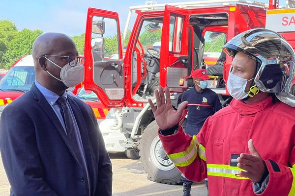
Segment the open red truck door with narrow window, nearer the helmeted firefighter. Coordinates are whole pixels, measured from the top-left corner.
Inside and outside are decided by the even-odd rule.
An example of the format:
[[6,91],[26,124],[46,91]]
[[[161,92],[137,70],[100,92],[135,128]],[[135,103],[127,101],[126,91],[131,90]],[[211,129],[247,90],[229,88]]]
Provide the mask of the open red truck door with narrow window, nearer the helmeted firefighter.
[[[187,10],[165,6],[160,53],[160,85],[173,92],[187,89],[187,78],[193,70],[189,56],[189,28]],[[190,43],[189,43],[190,42]]]

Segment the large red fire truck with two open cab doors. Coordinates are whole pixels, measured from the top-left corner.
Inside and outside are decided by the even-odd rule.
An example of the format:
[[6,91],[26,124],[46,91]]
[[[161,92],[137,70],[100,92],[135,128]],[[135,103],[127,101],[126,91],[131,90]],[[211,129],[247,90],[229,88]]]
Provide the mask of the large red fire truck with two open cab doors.
[[[130,158],[140,155],[150,180],[180,183],[180,172],[157,135],[148,99],[155,102],[154,90],[168,86],[177,109],[182,93],[192,87],[191,73],[206,68],[209,87],[227,104],[230,96],[225,84],[233,59],[221,47],[247,29],[267,26],[282,32],[295,48],[295,1],[288,1],[286,7],[279,9],[277,0],[268,5],[248,0],[201,0],[132,6],[122,40],[118,13],[89,8],[85,89],[114,110],[116,119],[107,123],[109,132],[123,138],[106,145],[130,150]],[[136,20],[123,59],[122,44],[134,13]],[[266,20],[267,15],[275,20]]]

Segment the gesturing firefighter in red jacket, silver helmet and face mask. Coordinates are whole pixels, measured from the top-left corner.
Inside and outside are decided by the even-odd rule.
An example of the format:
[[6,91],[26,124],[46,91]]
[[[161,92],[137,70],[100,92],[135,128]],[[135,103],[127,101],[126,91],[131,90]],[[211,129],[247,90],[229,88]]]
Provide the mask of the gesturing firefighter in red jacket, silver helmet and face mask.
[[[251,29],[223,50],[234,57],[227,89],[234,98],[198,135],[180,125],[187,102],[171,106],[169,89],[149,100],[163,147],[192,181],[208,177],[211,196],[295,196],[295,53],[278,33]],[[293,107],[291,107],[293,106]]]

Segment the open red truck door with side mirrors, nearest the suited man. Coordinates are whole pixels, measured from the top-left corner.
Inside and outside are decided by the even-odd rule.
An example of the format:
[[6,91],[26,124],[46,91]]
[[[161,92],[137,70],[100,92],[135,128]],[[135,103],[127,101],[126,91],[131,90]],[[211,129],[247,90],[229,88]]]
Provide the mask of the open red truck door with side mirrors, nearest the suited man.
[[85,34],[85,89],[107,107],[124,104],[124,69],[118,13],[89,8]]

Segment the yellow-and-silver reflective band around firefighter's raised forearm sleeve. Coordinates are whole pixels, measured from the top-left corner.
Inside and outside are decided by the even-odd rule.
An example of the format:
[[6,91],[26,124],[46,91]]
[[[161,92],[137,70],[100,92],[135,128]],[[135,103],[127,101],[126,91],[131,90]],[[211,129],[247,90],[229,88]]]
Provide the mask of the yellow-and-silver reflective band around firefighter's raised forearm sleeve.
[[185,167],[190,165],[197,157],[197,147],[194,140],[191,141],[190,145],[186,150],[173,154],[167,154],[174,165],[179,167]]

